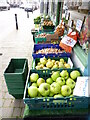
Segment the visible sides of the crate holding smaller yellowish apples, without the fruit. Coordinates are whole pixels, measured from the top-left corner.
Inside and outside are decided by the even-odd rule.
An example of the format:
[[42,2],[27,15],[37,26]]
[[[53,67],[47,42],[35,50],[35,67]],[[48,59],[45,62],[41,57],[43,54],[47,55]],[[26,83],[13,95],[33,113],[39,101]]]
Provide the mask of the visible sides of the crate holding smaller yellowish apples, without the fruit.
[[[48,58],[50,58],[51,60],[56,60],[56,61],[59,61],[60,58],[63,58],[64,61],[65,61],[66,63],[69,63],[70,66],[71,66],[71,68],[73,68],[73,63],[72,63],[72,61],[71,61],[71,59],[70,59],[69,57],[53,57],[53,58],[48,57]],[[32,69],[35,69],[35,67],[36,67],[36,65],[37,65],[38,62],[40,62],[40,58],[33,59]]]

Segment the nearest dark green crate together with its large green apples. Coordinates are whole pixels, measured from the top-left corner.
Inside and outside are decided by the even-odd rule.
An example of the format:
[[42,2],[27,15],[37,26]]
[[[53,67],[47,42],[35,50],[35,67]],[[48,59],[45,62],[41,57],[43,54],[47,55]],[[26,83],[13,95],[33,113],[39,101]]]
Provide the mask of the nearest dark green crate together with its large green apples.
[[85,97],[73,95],[79,76],[82,76],[79,68],[32,69],[26,82],[24,103],[31,110],[85,108],[87,104]]

